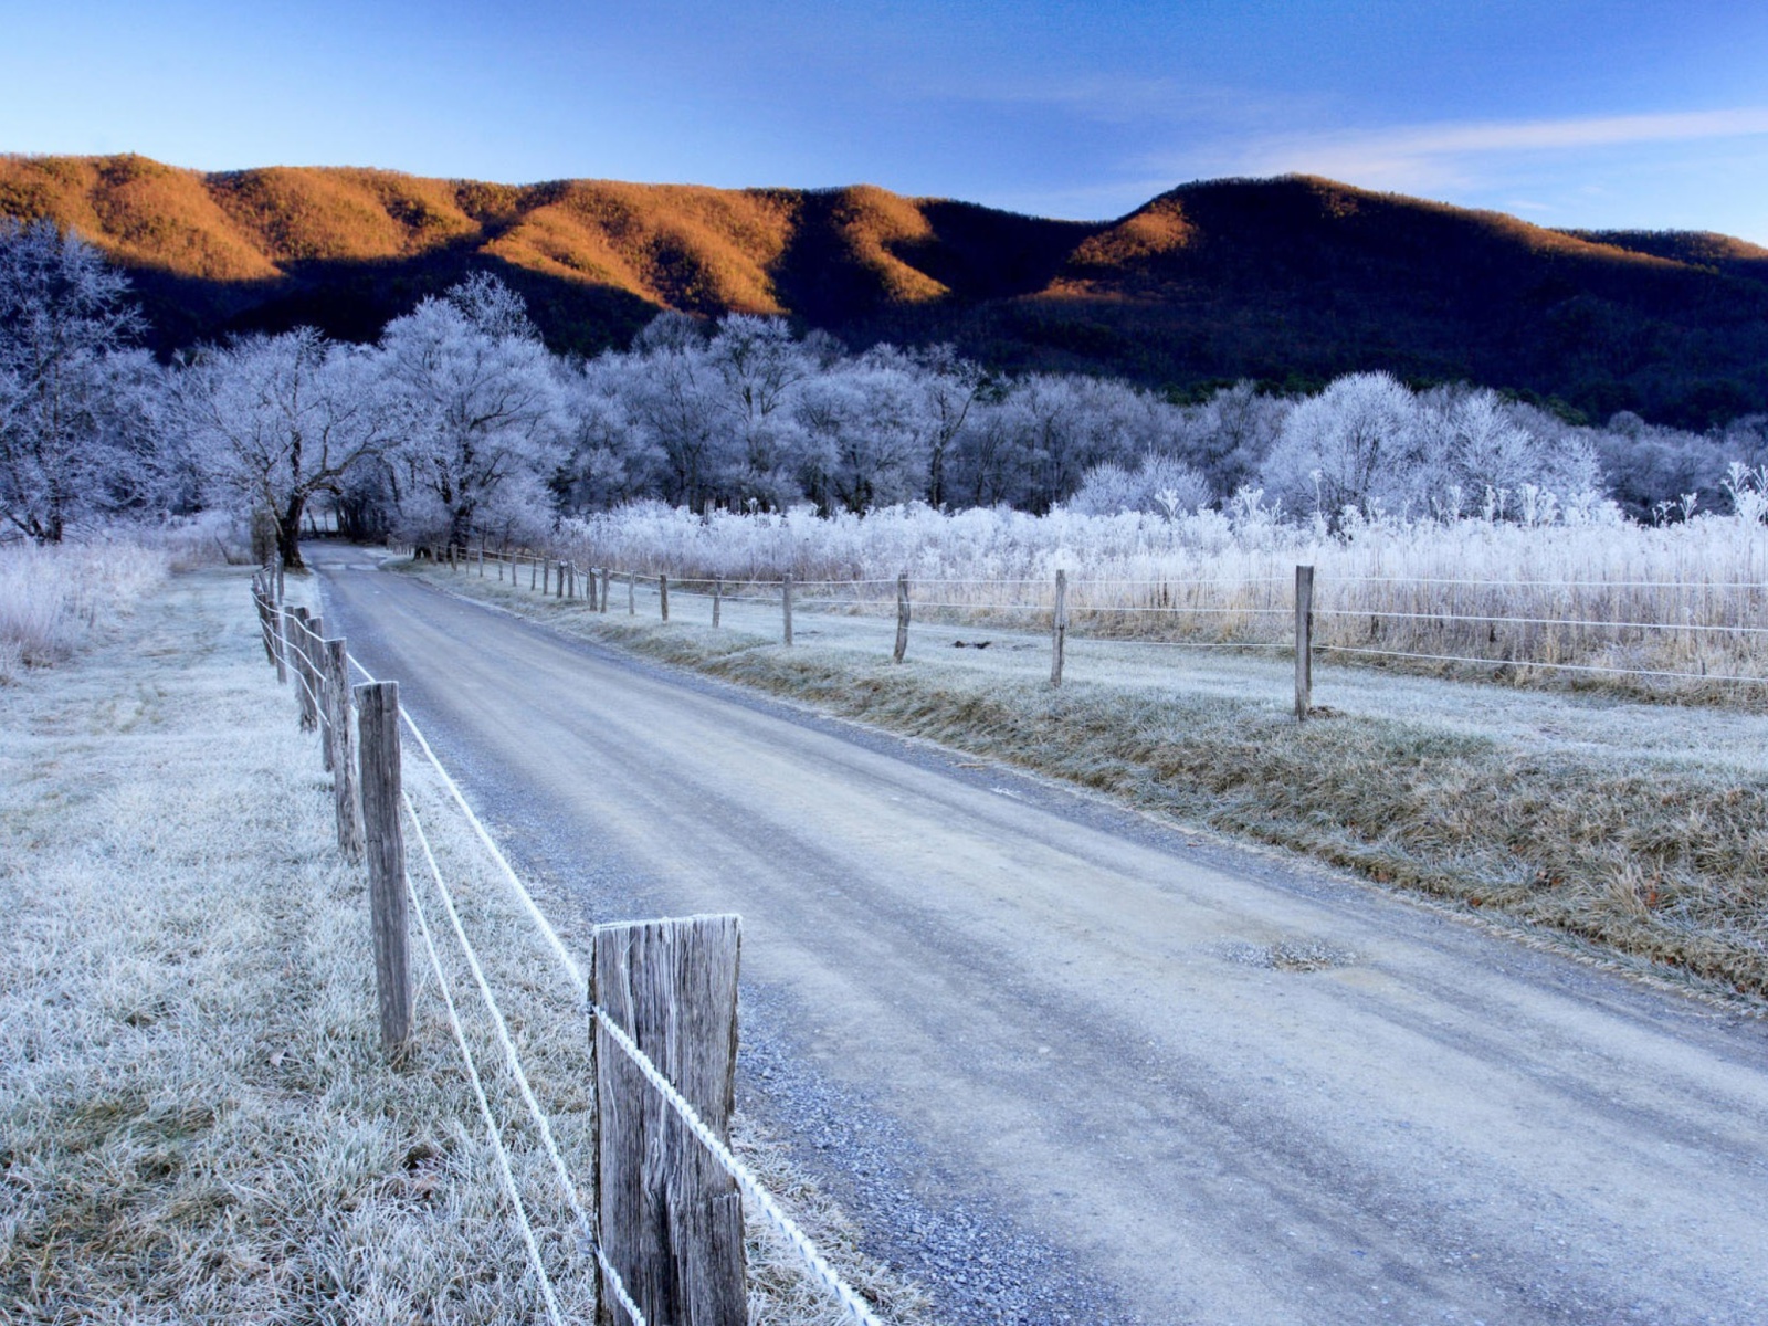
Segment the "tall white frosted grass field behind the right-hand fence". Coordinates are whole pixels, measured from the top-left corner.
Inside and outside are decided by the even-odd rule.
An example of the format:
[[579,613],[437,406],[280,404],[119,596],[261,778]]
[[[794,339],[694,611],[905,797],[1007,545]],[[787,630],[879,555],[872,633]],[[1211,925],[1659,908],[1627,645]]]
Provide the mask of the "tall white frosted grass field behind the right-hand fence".
[[1768,525],[1749,483],[1738,484],[1738,514],[1662,527],[1600,509],[1328,532],[1273,520],[1257,502],[1177,520],[926,507],[702,518],[644,506],[568,522],[553,555],[721,576],[739,592],[790,573],[806,605],[891,615],[907,575],[919,617],[1001,626],[1045,624],[1061,569],[1075,635],[1193,647],[1292,642],[1294,569],[1305,564],[1315,568],[1315,644],[1345,661],[1503,668],[1510,681],[1761,707]]

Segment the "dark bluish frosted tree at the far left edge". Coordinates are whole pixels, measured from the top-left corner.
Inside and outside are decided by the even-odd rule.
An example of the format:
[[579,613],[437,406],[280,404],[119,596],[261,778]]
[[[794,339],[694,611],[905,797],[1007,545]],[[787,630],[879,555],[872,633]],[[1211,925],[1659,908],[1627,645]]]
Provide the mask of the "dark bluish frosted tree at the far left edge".
[[[69,523],[152,504],[133,424],[157,375],[124,348],[141,329],[129,283],[50,221],[0,221],[0,522],[58,543]],[[134,398],[134,400],[131,400]]]

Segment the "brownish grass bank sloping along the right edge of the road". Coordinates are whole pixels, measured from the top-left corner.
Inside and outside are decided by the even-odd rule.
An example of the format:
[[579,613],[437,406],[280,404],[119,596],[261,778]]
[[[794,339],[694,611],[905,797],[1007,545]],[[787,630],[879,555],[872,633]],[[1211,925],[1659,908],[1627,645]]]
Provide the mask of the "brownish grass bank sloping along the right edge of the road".
[[1170,686],[1071,681],[1057,691],[419,575],[649,658],[1305,852],[1710,994],[1768,995],[1768,780],[1745,771],[1542,753],[1432,727],[1429,714],[1296,725],[1266,700]]

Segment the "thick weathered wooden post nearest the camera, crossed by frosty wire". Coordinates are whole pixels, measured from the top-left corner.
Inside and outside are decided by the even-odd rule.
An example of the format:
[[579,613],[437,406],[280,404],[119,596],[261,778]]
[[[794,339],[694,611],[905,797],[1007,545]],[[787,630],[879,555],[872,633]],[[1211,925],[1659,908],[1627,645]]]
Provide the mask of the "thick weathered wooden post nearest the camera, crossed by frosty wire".
[[[598,1227],[610,1264],[654,1322],[746,1326],[743,1195],[603,1020],[636,1041],[728,1142],[739,951],[735,916],[599,925],[594,934]],[[603,1321],[622,1317],[603,1307]]]

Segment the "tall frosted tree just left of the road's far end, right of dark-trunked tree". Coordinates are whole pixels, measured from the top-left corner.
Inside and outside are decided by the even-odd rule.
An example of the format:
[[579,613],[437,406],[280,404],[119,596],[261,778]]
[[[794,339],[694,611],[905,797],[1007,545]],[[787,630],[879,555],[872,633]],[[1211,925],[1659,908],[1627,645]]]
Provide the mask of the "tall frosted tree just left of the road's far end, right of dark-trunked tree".
[[394,460],[407,534],[465,546],[545,523],[564,461],[564,391],[520,299],[474,276],[387,324],[382,380],[405,410]]

